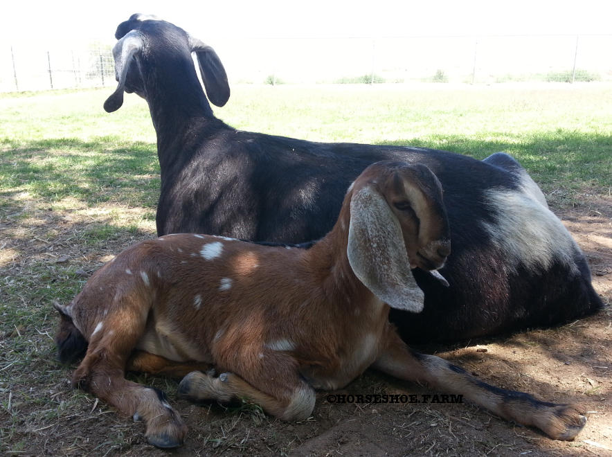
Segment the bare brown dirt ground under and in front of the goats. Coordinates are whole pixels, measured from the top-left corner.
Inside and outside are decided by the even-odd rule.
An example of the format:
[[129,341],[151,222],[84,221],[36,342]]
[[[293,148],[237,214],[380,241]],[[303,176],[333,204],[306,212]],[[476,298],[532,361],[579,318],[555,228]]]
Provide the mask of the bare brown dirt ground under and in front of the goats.
[[[9,455],[612,456],[612,199],[585,198],[573,209],[555,212],[591,262],[593,284],[606,303],[602,312],[561,328],[470,341],[460,347],[417,348],[435,352],[496,386],[525,391],[551,402],[581,404],[588,412],[588,422],[573,442],[550,440],[470,404],[339,404],[331,402],[327,393],[318,394],[311,418],[286,423],[273,420],[252,405],[226,409],[217,404],[201,406],[176,400],[174,380],[133,376],[138,382],[165,390],[188,424],[184,447],[162,451],[147,445],[142,423],[120,418],[95,398],[72,391],[71,370],[56,366],[56,372],[46,375],[51,384],[33,381],[30,400],[26,398],[28,387],[20,387],[12,405],[9,400],[10,418],[3,401],[0,421],[6,427],[12,420],[10,440],[24,443]],[[125,246],[129,240],[116,241]],[[99,265],[108,260],[113,244],[105,247],[106,252],[82,253],[80,261]],[[73,245],[64,244],[66,249],[69,246]],[[58,249],[53,256],[63,255],[61,244]],[[75,258],[74,252],[68,255]],[[53,336],[51,326],[37,332]],[[8,348],[3,350],[10,350],[10,341],[16,337],[15,332],[0,335],[2,347]],[[51,360],[53,344],[44,339],[42,357]],[[54,366],[52,361],[49,366]],[[334,392],[396,393],[416,394],[422,399],[420,395],[433,392],[372,371],[343,391]],[[47,418],[36,410],[43,407],[37,404],[37,398],[46,399],[44,407],[52,399],[61,413],[51,411]]]

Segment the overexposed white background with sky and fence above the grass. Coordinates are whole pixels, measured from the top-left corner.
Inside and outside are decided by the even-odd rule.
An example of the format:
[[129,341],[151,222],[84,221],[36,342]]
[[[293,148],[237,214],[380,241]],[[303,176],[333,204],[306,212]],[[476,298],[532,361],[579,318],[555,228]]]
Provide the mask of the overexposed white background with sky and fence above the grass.
[[612,80],[609,1],[76,1],[3,4],[0,91],[114,86],[134,12],[213,46],[232,84]]

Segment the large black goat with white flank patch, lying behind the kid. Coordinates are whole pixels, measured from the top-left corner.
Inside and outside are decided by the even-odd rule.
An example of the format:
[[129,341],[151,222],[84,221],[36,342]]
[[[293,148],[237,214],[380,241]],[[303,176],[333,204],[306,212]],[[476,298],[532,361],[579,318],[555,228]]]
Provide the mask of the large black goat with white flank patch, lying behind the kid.
[[161,165],[158,235],[316,240],[330,231],[346,189],[370,163],[421,163],[445,192],[452,253],[440,271],[450,287],[414,270],[424,310],[391,316],[404,339],[457,341],[561,323],[602,306],[582,252],[512,157],[478,161],[424,148],[237,131],[208,104],[222,106],[230,93],[213,48],[173,24],[143,19],[132,15],[117,28],[119,84],[105,109],[118,109],[124,91],[149,104]]

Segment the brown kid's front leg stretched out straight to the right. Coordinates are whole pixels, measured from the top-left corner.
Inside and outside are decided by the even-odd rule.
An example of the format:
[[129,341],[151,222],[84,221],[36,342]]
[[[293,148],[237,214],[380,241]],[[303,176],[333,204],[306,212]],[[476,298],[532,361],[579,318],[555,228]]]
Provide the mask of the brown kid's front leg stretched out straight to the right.
[[501,418],[537,427],[555,440],[573,440],[586,424],[575,405],[541,402],[528,393],[494,387],[440,357],[412,352],[395,330],[389,332],[384,347],[372,368],[399,379],[425,382],[442,392],[462,394]]

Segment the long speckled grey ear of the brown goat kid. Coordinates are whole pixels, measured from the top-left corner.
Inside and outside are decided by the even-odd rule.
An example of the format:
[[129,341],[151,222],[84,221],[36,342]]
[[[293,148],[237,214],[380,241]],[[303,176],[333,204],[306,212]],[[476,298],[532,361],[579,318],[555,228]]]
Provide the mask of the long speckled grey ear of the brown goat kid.
[[350,201],[348,262],[361,283],[397,310],[420,312],[424,293],[410,269],[402,228],[385,199],[369,186]]

